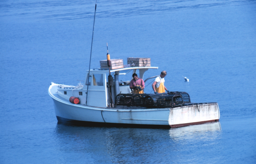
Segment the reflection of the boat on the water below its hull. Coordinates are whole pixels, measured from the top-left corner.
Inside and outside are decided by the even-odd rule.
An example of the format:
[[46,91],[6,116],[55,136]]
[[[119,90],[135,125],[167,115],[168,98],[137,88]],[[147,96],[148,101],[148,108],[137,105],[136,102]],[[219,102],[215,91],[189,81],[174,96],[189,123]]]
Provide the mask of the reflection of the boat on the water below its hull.
[[[61,151],[87,163],[193,163],[194,158],[183,161],[180,157],[187,151],[197,155],[190,149],[198,153],[213,148],[220,132],[220,122],[176,129],[84,127],[59,122],[54,136]],[[201,144],[208,146],[202,148]]]

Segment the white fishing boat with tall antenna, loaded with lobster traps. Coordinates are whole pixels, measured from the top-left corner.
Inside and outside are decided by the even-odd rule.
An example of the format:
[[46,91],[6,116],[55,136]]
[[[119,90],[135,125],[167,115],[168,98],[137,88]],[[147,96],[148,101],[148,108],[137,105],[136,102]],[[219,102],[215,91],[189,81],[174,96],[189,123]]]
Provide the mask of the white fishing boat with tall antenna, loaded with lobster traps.
[[[139,78],[143,79],[146,71],[158,67],[153,67],[144,60],[137,65],[130,62],[126,65],[120,62],[113,65],[111,61],[114,59],[111,60],[107,53],[106,66],[102,64],[100,68],[91,69],[90,56],[84,85],[51,83],[48,93],[54,101],[58,122],[84,126],[178,128],[219,120],[217,102],[192,103],[186,92],[132,93],[129,73],[138,72]],[[119,80],[120,76],[123,76],[124,80]],[[145,83],[155,77],[147,78]]]

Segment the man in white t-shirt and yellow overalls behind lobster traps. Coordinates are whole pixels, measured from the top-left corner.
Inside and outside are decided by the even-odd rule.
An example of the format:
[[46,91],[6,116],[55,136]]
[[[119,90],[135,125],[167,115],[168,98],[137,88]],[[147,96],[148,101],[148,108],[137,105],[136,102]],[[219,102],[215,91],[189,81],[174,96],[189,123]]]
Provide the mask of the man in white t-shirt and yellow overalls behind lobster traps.
[[152,88],[155,94],[165,93],[165,90],[169,92],[166,87],[163,85],[165,82],[164,77],[167,75],[166,71],[162,71],[159,77],[156,77],[155,81],[152,84]]

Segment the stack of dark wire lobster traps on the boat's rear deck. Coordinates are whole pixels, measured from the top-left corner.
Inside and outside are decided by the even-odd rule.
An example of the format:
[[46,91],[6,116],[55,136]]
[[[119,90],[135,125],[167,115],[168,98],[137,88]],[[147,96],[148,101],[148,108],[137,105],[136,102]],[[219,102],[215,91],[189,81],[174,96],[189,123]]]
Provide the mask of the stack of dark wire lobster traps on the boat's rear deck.
[[143,106],[147,108],[174,108],[190,103],[186,92],[169,92],[161,94],[119,94],[115,106]]

